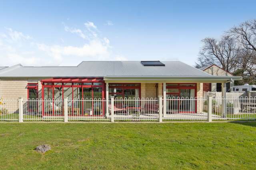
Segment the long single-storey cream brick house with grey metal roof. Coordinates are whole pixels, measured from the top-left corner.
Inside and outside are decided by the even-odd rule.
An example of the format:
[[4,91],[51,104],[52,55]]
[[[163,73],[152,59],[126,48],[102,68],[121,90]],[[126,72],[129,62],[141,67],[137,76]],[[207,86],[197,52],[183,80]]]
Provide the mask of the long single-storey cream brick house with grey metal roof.
[[[227,82],[240,79],[211,75],[180,61],[83,61],[78,66],[17,64],[0,70],[0,98],[202,98],[203,83],[220,83],[226,92]],[[178,112],[196,109],[182,102],[178,105]],[[80,109],[85,110],[83,106]]]

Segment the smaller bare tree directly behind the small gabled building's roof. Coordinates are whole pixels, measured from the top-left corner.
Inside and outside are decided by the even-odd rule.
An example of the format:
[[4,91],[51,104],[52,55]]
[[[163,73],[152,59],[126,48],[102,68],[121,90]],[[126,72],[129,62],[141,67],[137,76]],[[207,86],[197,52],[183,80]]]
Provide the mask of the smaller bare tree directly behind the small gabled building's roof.
[[199,52],[197,67],[216,64],[228,72],[234,70],[239,47],[233,37],[223,36],[219,41],[214,38],[205,38],[202,43],[203,47]]

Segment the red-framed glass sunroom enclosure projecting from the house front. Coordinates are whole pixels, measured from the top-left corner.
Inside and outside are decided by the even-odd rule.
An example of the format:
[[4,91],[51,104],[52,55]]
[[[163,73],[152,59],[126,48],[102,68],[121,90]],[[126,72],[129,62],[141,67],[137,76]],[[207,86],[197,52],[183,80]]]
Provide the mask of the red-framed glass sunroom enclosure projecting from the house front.
[[[50,82],[49,82],[50,81]],[[64,97],[73,99],[68,102],[68,112],[78,116],[95,116],[104,114],[104,83],[102,78],[60,78],[42,80],[44,110],[53,115],[63,115]],[[51,105],[51,106],[49,106]],[[51,109],[48,109],[51,107]]]

